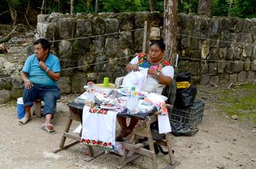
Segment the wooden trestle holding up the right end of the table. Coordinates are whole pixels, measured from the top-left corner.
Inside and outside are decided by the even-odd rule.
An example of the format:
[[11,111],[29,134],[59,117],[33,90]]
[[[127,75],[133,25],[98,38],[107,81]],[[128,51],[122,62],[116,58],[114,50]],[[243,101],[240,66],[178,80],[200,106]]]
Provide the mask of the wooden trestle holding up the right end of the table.
[[[152,122],[155,122],[156,120],[157,120],[156,115],[150,115],[150,118],[147,118],[146,120],[142,120],[141,127],[134,128],[134,131],[132,132],[129,143],[123,143],[125,148],[125,154],[120,159],[118,163],[118,168],[124,167],[127,163],[133,161],[134,159],[137,159],[138,156],[141,156],[141,155],[149,156],[150,158],[152,158],[152,168],[157,168],[157,158],[154,152],[154,144],[163,145],[167,147],[169,152],[168,154],[169,154],[170,164],[166,168],[175,168],[177,165],[179,165],[179,162],[174,161],[173,150],[170,143],[170,133],[166,134],[166,140],[162,140],[162,141],[153,140],[150,124]],[[143,143],[136,143],[137,136],[143,136],[148,140]],[[149,145],[150,150],[143,148],[145,147],[145,145]],[[129,152],[134,152],[134,154],[132,156],[127,157],[127,154]]]

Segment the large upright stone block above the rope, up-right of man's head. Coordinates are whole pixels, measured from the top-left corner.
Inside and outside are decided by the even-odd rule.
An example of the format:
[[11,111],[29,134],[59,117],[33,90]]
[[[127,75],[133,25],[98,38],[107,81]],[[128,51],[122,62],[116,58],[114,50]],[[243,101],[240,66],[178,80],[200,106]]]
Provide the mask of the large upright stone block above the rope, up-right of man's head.
[[58,33],[62,40],[74,38],[76,21],[72,17],[61,18],[58,20]]

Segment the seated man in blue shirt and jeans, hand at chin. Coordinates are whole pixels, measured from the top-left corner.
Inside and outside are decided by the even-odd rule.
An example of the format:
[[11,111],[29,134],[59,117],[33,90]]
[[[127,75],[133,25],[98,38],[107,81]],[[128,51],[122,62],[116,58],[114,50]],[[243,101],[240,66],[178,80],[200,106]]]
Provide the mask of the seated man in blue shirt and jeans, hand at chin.
[[60,79],[61,64],[56,56],[50,54],[51,44],[45,39],[36,40],[34,43],[35,54],[26,59],[22,69],[22,97],[25,107],[24,118],[19,120],[23,125],[31,120],[31,106],[35,99],[45,102],[45,123],[40,127],[50,134],[54,134],[51,119],[54,117],[56,99],[60,99],[60,91],[56,81]]

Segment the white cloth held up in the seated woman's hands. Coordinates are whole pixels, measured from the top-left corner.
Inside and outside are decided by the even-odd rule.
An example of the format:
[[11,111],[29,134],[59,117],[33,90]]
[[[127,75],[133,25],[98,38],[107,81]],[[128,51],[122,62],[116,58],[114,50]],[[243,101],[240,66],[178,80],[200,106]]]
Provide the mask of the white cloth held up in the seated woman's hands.
[[122,81],[122,86],[131,88],[135,86],[136,90],[141,90],[146,79],[148,68],[138,67],[139,71],[129,72]]

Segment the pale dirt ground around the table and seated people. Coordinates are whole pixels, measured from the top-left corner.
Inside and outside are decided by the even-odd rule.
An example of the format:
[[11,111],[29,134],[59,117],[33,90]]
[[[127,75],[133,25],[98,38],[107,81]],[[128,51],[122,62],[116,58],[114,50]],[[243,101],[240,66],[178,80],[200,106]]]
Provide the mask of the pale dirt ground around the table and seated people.
[[[216,106],[216,100],[207,92],[198,92],[205,98],[205,111],[200,129],[194,136],[173,136],[175,159],[183,168],[256,168],[256,125],[246,120],[232,120]],[[56,134],[40,129],[44,118],[33,115],[31,122],[19,126],[16,102],[0,104],[0,168],[116,168],[120,156],[102,154],[90,162],[84,161],[86,147],[81,144],[56,154],[68,117],[67,102],[73,96],[62,96],[54,118]],[[72,131],[79,123],[72,124]],[[72,140],[67,140],[71,142]],[[158,154],[159,168],[168,163],[168,155]],[[125,168],[150,168],[151,159],[141,156]]]

